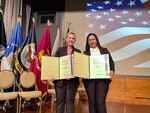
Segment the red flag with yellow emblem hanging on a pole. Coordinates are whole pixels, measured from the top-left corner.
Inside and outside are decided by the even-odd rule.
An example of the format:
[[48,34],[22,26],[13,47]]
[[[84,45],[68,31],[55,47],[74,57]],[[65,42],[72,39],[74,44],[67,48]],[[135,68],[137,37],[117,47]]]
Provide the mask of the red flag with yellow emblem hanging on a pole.
[[51,54],[51,41],[50,41],[50,25],[47,25],[46,31],[38,45],[37,53],[31,62],[29,70],[36,75],[36,82],[38,90],[42,91],[43,96],[47,91],[47,84],[41,80],[41,59],[43,55]]

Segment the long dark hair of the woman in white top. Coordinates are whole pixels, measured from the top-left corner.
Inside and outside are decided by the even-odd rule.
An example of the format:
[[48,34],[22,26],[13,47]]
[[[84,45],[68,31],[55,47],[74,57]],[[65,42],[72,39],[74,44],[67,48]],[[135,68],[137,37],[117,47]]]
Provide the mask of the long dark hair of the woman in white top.
[[100,42],[99,42],[99,40],[98,40],[98,36],[97,36],[95,33],[89,33],[89,34],[87,35],[87,38],[86,38],[85,51],[89,51],[89,49],[90,49],[90,45],[89,45],[89,43],[88,43],[88,40],[89,40],[89,37],[90,37],[91,35],[93,35],[93,36],[95,37],[96,42],[97,42],[97,47],[98,47],[98,48],[101,47]]

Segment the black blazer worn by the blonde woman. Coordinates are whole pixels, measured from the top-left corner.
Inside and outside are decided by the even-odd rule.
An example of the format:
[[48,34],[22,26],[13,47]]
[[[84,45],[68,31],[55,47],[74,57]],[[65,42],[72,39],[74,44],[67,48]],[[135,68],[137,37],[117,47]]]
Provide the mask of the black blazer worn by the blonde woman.
[[[81,51],[79,49],[77,49],[73,46],[72,54],[74,53],[74,51],[81,53]],[[58,50],[55,54],[55,57],[61,57],[61,56],[65,56],[65,55],[67,55],[67,46],[58,48]],[[55,86],[59,86],[59,87],[61,87],[64,84],[64,82],[67,82],[70,84],[79,84],[79,78],[75,77],[75,78],[71,78],[70,80],[66,80],[66,79],[54,80]]]

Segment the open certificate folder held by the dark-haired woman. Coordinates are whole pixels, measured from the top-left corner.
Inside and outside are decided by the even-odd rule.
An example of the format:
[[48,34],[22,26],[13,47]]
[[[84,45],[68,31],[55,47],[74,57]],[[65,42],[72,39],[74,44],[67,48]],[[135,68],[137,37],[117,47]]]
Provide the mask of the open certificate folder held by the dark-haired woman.
[[74,76],[97,79],[110,78],[109,55],[88,56],[74,52]]

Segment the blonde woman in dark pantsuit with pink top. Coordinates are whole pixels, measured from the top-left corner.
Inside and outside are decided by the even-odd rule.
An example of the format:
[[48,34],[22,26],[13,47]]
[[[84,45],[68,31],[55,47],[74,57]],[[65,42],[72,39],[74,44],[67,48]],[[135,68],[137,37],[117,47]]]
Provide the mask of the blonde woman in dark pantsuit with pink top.
[[[76,41],[75,33],[68,33],[65,39],[65,47],[58,48],[55,56],[61,57],[71,55],[75,52],[81,51],[73,45]],[[54,80],[54,87],[56,91],[56,113],[64,113],[66,106],[66,113],[74,113],[74,101],[77,88],[79,85],[79,78],[66,78],[61,80]]]

